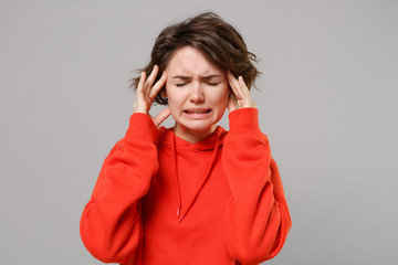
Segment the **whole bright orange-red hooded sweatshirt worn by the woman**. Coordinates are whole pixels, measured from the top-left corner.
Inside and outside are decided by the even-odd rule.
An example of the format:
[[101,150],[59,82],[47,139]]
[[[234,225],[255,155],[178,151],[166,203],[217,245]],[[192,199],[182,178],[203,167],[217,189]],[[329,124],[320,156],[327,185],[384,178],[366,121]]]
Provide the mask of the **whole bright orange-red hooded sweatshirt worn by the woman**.
[[291,219],[255,108],[189,144],[133,114],[81,219],[93,256],[121,264],[259,264],[282,248]]

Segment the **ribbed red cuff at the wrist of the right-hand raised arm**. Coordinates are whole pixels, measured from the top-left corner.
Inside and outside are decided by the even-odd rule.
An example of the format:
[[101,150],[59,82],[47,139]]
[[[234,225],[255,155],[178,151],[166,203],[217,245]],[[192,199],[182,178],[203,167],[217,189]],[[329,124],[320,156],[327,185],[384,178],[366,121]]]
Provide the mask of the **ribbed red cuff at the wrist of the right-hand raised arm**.
[[259,110],[256,108],[240,108],[229,114],[230,132],[261,134]]

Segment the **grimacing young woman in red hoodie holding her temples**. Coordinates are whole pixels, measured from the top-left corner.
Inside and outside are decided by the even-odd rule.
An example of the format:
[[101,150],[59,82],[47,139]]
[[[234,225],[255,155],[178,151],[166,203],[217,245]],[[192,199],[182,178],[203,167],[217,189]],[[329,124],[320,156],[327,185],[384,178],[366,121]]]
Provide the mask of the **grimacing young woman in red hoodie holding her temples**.
[[[213,13],[160,33],[134,82],[127,132],[82,214],[81,236],[96,258],[258,264],[280,252],[291,219],[250,96],[251,61],[241,35]],[[168,107],[150,117],[154,102]],[[217,125],[226,109],[229,131]],[[170,115],[175,127],[159,128]]]

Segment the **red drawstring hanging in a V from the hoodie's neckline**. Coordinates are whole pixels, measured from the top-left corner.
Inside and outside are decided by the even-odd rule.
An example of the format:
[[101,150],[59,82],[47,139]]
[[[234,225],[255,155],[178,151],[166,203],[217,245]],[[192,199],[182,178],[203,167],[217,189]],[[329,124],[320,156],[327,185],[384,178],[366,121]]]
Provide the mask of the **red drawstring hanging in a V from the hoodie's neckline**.
[[180,184],[179,184],[179,177],[178,177],[178,167],[177,167],[177,150],[176,150],[176,135],[172,134],[172,159],[174,159],[174,170],[175,170],[175,180],[176,180],[176,187],[177,187],[177,218],[179,219],[179,222],[182,221],[182,219],[185,218],[185,215],[188,213],[188,211],[190,210],[190,208],[192,206],[192,204],[195,203],[195,201],[197,200],[199,192],[201,191],[201,189],[203,188],[203,186],[206,184],[207,180],[210,177],[210,172],[212,170],[212,167],[214,165],[216,158],[217,158],[217,153],[218,153],[218,149],[219,149],[219,142],[220,142],[220,134],[219,131],[216,132],[216,144],[214,144],[214,148],[213,148],[213,152],[211,156],[211,160],[206,169],[205,172],[205,179],[201,183],[201,186],[198,189],[198,192],[196,193],[196,197],[193,198],[193,201],[188,205],[187,211],[185,212],[185,214],[182,216],[181,215],[181,189],[180,189]]

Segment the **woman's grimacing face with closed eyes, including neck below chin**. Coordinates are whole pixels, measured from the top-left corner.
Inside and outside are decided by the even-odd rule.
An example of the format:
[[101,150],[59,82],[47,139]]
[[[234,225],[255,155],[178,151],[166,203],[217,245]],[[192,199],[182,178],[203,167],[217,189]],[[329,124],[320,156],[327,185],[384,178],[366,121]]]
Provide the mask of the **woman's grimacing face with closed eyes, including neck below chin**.
[[228,103],[226,71],[195,47],[185,46],[171,56],[166,72],[166,96],[176,120],[175,134],[189,142],[212,134]]

